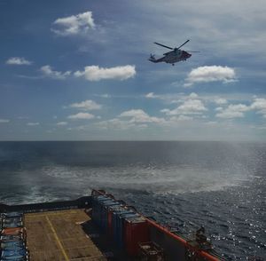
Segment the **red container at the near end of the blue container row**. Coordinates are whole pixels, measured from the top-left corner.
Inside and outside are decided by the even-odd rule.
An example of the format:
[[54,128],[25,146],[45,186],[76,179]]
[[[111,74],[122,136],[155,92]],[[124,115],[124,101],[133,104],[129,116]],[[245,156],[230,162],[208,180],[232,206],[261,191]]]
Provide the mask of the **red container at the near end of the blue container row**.
[[129,256],[137,256],[139,243],[146,241],[150,241],[150,236],[145,218],[126,218],[124,221],[124,243]]

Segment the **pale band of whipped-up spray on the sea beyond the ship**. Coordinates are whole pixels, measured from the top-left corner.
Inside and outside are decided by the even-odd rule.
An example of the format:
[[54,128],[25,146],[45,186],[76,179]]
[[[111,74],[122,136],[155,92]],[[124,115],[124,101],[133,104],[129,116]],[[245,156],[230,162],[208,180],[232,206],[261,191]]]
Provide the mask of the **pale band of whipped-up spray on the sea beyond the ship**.
[[156,165],[128,167],[68,167],[52,165],[43,168],[43,174],[58,184],[67,184],[74,190],[112,187],[113,189],[136,189],[154,193],[195,193],[218,191],[239,186],[246,174],[229,173],[229,170],[193,169],[188,166]]

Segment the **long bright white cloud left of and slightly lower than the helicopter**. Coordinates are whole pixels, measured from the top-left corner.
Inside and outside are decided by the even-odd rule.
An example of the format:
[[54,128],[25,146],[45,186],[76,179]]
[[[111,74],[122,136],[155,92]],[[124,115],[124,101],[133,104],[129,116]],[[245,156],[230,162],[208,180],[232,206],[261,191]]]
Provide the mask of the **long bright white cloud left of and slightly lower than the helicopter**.
[[83,71],[76,71],[74,76],[84,77],[88,81],[100,81],[105,79],[126,80],[136,75],[135,66],[103,68],[98,66],[84,67]]

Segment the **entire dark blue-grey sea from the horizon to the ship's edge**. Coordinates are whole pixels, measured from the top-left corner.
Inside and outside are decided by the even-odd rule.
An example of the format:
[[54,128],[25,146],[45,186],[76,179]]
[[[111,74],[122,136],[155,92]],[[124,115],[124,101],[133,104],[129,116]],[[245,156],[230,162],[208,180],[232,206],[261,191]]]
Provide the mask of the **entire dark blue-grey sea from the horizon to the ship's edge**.
[[266,257],[265,187],[265,143],[0,142],[0,202],[105,189],[184,236],[204,225],[229,260]]

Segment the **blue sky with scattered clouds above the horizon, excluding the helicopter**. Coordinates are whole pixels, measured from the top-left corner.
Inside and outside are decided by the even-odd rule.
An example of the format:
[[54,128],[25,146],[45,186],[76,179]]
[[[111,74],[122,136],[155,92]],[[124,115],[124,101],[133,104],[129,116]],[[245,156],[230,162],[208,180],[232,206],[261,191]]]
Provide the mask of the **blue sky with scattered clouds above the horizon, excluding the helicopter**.
[[[0,0],[0,140],[266,141],[264,0]],[[176,47],[192,57],[152,63]]]

